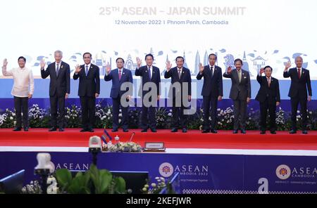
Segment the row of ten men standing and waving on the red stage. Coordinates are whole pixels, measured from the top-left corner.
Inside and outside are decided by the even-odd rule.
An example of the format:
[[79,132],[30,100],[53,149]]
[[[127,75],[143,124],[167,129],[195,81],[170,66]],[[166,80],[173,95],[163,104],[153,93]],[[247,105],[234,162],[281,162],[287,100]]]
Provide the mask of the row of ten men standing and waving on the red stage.
[[[44,69],[46,63],[41,61],[41,76],[43,79],[50,77],[49,83],[49,100],[51,113],[51,128],[49,131],[64,131],[65,117],[65,100],[70,94],[70,66],[62,61],[63,53],[54,52],[55,62],[49,64]],[[83,54],[84,64],[75,67],[73,79],[80,79],[78,86],[78,96],[82,109],[82,129],[80,131],[93,132],[95,118],[96,98],[100,94],[99,67],[92,64],[92,54]],[[197,79],[204,78],[201,96],[203,96],[204,125],[202,133],[217,133],[217,105],[218,101],[223,98],[223,77],[230,78],[232,85],[230,89],[230,98],[234,106],[234,126],[233,134],[237,134],[240,129],[242,134],[246,133],[247,122],[247,103],[251,100],[251,82],[248,71],[242,69],[242,60],[235,60],[235,69],[228,67],[223,73],[221,68],[216,66],[217,56],[211,53],[209,55],[209,65],[199,64],[199,74]],[[6,70],[8,64],[4,60],[2,73],[4,76],[13,76],[14,84],[11,94],[14,96],[14,107],[16,112],[16,127],[13,131],[23,128],[28,130],[27,124],[27,107],[28,99],[32,98],[34,92],[34,80],[32,70],[25,67],[26,59],[21,56],[18,58],[19,67],[10,71]],[[149,97],[146,103],[142,103],[141,131],[147,132],[151,129],[156,132],[156,102],[161,93],[161,76],[158,67],[153,65],[154,56],[147,54],[145,56],[146,65],[142,66],[142,61],[137,58],[137,69],[135,76],[142,77],[142,84],[139,96],[142,98]],[[124,132],[128,132],[128,106],[132,99],[132,72],[124,67],[123,58],[116,59],[117,68],[111,70],[109,65],[106,66],[104,80],[112,81],[111,98],[113,103],[113,132],[118,131],[122,126]],[[166,63],[166,72],[164,78],[171,78],[171,87],[168,98],[172,102],[173,124],[172,132],[182,129],[187,132],[187,115],[185,110],[188,108],[188,102],[192,98],[191,91],[191,72],[184,67],[185,60],[182,56],[175,59],[176,66],[172,67],[170,61]],[[290,92],[292,104],[292,129],[290,134],[297,133],[297,108],[301,105],[302,113],[302,133],[307,134],[307,100],[311,100],[311,80],[309,70],[302,67],[303,59],[298,56],[295,58],[296,67],[291,68],[291,63],[285,65],[283,77],[291,78]],[[276,106],[280,105],[280,87],[278,79],[271,76],[273,68],[266,66],[261,68],[257,74],[256,80],[260,84],[256,100],[260,103],[261,111],[261,134],[266,134],[266,117],[270,116],[271,134],[276,134],[275,112]],[[264,76],[262,74],[264,73]],[[155,96],[149,96],[149,92],[155,89]],[[122,120],[119,123],[119,111],[122,111]],[[58,112],[58,113],[57,113]]]

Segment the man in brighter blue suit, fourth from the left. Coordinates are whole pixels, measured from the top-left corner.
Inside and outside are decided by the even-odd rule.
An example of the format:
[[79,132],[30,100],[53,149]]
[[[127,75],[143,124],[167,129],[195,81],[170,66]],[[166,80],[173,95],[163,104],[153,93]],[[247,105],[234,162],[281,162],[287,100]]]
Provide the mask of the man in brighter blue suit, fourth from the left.
[[119,108],[122,110],[121,125],[124,132],[128,132],[128,101],[131,100],[133,92],[132,84],[133,77],[130,70],[123,67],[125,60],[117,58],[117,68],[111,71],[111,67],[107,65],[105,81],[112,80],[112,87],[110,96],[113,104],[113,132],[118,131],[119,128]]

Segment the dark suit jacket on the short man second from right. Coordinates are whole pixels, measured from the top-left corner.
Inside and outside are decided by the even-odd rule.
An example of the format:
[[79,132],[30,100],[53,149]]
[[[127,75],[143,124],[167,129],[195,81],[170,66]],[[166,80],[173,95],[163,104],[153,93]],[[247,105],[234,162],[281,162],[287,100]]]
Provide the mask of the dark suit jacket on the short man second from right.
[[260,77],[259,74],[256,76],[256,80],[259,82],[260,89],[256,95],[256,100],[263,103],[268,99],[268,103],[275,104],[280,102],[280,86],[278,84],[278,79],[271,77],[271,84],[268,87],[268,79],[266,76]]

